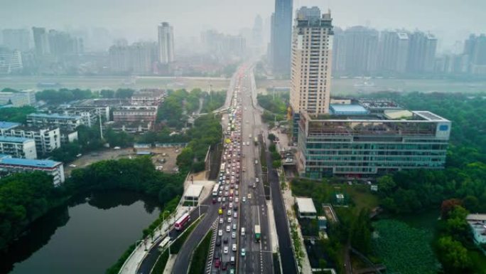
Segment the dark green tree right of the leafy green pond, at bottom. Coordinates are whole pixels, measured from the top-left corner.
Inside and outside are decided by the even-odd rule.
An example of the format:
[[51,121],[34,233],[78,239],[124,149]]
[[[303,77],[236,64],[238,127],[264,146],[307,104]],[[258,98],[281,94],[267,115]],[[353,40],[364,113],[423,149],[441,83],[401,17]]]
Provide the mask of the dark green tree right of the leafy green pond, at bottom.
[[468,250],[459,242],[454,241],[450,236],[439,238],[439,257],[446,273],[466,273],[472,263],[468,257]]

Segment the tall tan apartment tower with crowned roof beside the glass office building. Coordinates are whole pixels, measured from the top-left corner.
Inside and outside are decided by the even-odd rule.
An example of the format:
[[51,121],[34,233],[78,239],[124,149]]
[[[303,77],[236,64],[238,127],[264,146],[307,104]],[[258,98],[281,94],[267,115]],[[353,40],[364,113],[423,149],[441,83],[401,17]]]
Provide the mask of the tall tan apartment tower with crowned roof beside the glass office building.
[[329,112],[333,19],[316,6],[297,11],[292,36],[290,103],[294,113]]

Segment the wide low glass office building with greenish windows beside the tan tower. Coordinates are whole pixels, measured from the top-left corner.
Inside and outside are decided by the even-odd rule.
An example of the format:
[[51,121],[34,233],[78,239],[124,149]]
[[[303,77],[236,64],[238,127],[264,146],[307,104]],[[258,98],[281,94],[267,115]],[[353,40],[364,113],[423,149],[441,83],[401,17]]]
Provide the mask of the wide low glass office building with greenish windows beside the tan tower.
[[[360,105],[335,106],[338,115],[332,111],[318,116],[301,112],[299,173],[318,179],[444,167],[449,120],[428,111],[376,106],[367,100]],[[362,111],[357,111],[358,107]]]

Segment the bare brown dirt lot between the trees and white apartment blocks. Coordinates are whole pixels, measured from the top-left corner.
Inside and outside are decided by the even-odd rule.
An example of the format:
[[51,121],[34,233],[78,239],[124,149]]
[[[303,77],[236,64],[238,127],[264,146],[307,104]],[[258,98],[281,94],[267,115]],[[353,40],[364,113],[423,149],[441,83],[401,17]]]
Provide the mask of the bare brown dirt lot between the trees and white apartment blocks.
[[[155,164],[156,167],[159,167],[161,171],[169,173],[174,172],[175,159],[180,153],[180,149],[175,147],[153,147],[151,149],[138,149],[138,151],[152,152],[153,164]],[[138,155],[136,154],[136,150],[133,148],[106,149],[100,152],[91,152],[89,154],[82,155],[70,164],[74,165],[75,167],[70,167],[70,165],[66,165],[64,167],[65,176],[69,176],[72,169],[87,167],[94,162],[108,159],[132,159],[132,157],[138,157]]]

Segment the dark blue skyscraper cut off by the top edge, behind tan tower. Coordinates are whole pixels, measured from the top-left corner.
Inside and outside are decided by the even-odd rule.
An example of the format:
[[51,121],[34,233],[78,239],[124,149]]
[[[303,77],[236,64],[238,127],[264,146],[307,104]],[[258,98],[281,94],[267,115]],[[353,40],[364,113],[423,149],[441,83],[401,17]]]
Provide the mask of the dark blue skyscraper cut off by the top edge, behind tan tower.
[[271,24],[271,64],[274,73],[288,75],[291,67],[293,0],[275,0],[274,19]]

